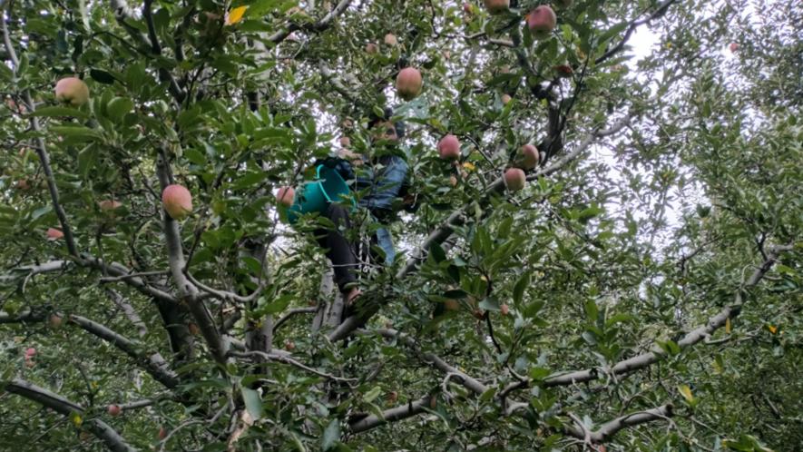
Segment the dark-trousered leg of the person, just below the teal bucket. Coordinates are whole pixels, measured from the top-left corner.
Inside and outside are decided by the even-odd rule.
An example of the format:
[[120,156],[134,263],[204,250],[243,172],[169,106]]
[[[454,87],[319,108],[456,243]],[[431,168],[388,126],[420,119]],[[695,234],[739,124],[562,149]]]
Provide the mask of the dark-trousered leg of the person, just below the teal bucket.
[[[318,244],[321,248],[326,249],[327,257],[332,261],[332,266],[335,270],[335,283],[338,284],[338,289],[344,294],[350,295],[352,290],[351,288],[347,289],[346,286],[357,282],[355,273],[359,263],[354,253],[354,247],[340,229],[350,229],[351,220],[348,217],[348,210],[334,203],[329,204],[327,217],[335,223],[335,229],[316,231]],[[348,297],[347,301],[350,301]]]

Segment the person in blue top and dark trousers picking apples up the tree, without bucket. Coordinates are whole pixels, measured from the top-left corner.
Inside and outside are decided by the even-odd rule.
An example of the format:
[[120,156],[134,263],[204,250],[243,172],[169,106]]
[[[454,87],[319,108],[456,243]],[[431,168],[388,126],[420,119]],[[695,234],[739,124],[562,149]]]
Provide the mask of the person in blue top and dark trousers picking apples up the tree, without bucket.
[[[358,205],[366,209],[374,220],[388,225],[396,218],[397,211],[415,211],[416,197],[409,193],[409,164],[406,152],[399,146],[404,138],[406,124],[393,121],[393,110],[386,109],[383,116],[373,115],[370,129],[370,147],[366,153],[356,153],[344,148],[338,157],[330,157],[324,164],[336,170],[344,180],[351,183],[357,192]],[[358,240],[349,240],[353,231],[355,211],[348,205],[331,203],[326,216],[335,224],[332,229],[316,231],[318,244],[326,250],[335,273],[335,283],[343,294],[347,306],[357,298],[357,270],[361,260],[392,263],[396,258],[393,239],[387,227],[380,227],[370,237],[369,246]],[[361,246],[363,245],[363,246]],[[375,252],[374,245],[380,252]]]

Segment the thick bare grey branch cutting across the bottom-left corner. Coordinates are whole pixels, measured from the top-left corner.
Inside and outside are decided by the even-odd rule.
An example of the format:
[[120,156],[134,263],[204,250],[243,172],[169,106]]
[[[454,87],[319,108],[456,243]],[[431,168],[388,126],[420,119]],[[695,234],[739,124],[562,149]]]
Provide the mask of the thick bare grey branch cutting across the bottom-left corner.
[[[77,403],[19,378],[0,382],[0,387],[5,388],[6,391],[12,394],[33,400],[44,407],[51,408],[64,416],[69,416],[72,413],[83,414],[83,408]],[[121,437],[119,433],[99,418],[88,418],[84,421],[84,425],[88,427],[96,437],[100,438],[103,443],[105,443],[106,447],[109,447],[109,449],[114,452],[134,452],[137,450],[126,443],[125,439]]]

